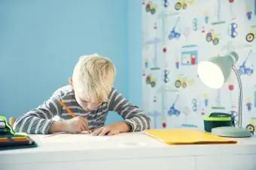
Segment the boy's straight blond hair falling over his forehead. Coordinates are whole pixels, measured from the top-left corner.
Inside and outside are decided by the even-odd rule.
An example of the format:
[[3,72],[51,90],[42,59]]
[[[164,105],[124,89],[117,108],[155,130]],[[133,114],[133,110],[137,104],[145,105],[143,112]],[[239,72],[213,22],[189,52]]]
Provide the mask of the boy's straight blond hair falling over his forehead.
[[75,91],[90,102],[106,102],[114,84],[115,67],[100,55],[83,55],[73,71]]

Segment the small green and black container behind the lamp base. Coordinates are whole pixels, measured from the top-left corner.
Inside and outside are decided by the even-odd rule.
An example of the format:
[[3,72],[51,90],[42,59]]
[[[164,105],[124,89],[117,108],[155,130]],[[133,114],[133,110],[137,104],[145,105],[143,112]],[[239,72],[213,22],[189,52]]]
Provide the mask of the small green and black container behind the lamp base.
[[215,127],[233,127],[233,116],[223,112],[212,112],[204,118],[206,132],[211,133]]

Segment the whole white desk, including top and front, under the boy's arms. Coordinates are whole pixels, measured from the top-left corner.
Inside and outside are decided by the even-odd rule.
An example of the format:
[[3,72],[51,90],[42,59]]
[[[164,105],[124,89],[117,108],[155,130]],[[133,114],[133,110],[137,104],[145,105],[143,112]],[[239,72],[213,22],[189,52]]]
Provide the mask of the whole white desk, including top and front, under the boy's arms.
[[[81,135],[76,135],[81,136]],[[166,145],[142,133],[99,139],[32,136],[38,148],[0,151],[1,170],[255,170],[256,138],[236,145]],[[97,137],[98,139],[92,139]],[[53,142],[53,138],[55,142]]]

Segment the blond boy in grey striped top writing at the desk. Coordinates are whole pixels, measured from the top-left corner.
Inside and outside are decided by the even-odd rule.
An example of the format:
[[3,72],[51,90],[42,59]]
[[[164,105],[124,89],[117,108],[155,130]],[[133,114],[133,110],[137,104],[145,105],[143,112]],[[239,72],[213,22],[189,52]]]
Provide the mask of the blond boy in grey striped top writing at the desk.
[[[108,58],[82,56],[69,85],[59,88],[41,106],[17,119],[14,130],[38,134],[93,131],[93,135],[104,136],[149,129],[150,118],[112,88],[114,77],[114,64]],[[72,117],[69,109],[77,116]],[[124,120],[104,126],[108,111],[117,112]],[[53,121],[55,115],[64,120]]]

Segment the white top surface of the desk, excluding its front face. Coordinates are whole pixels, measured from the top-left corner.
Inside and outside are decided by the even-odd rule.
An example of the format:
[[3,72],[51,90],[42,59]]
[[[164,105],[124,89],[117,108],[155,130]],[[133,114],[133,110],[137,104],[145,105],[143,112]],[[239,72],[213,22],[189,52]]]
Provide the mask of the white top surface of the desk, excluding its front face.
[[[136,157],[188,157],[198,155],[256,154],[256,138],[236,139],[237,144],[221,145],[166,145],[144,133],[122,133],[116,136],[90,136],[82,134],[32,135],[37,148],[0,151],[5,161],[22,155],[54,159],[120,159]],[[69,155],[69,156],[66,156]],[[75,157],[72,157],[74,154]],[[49,159],[52,159],[49,157]],[[3,160],[0,160],[2,162]]]

